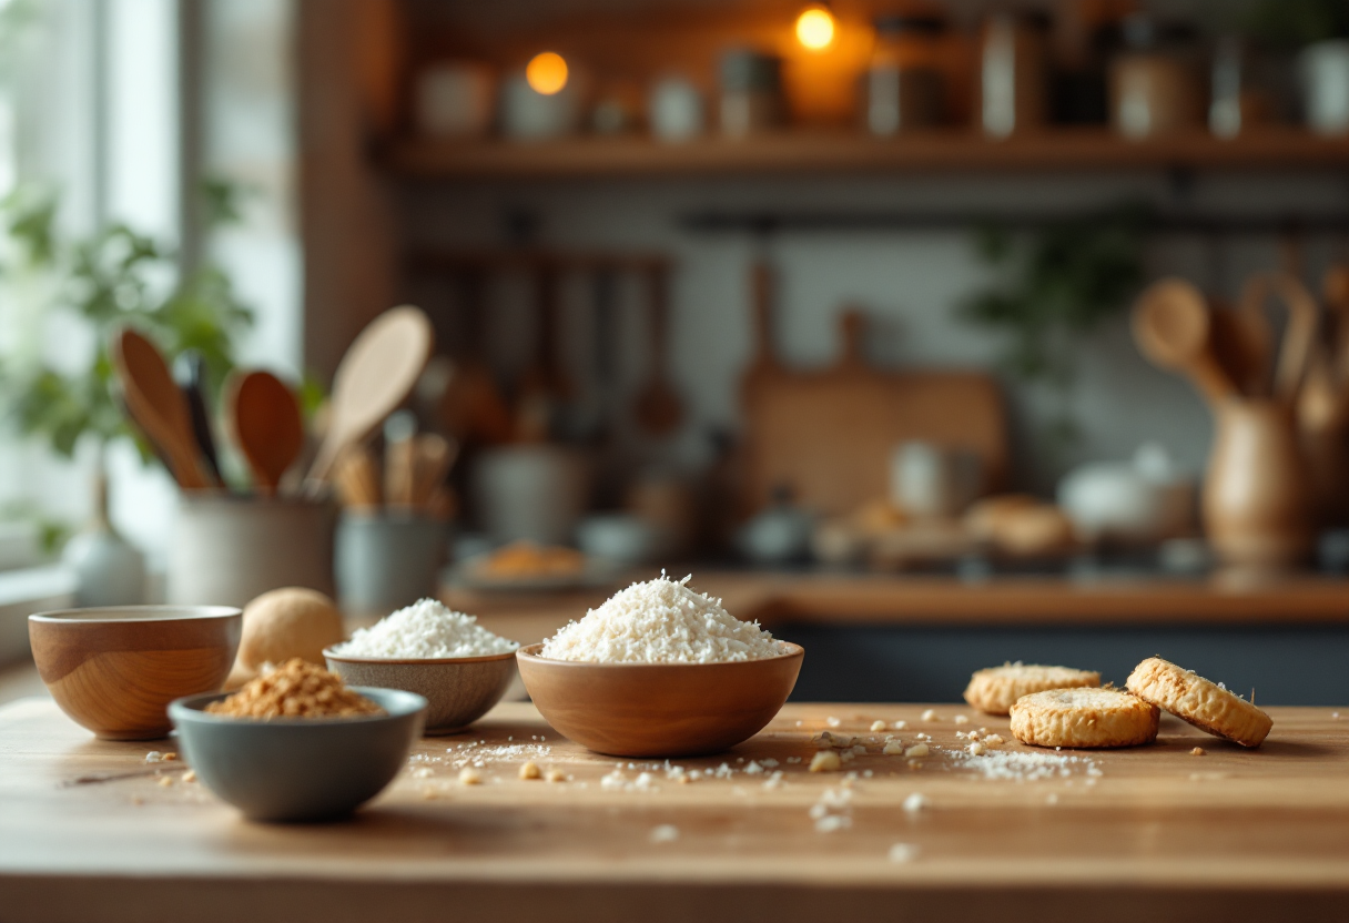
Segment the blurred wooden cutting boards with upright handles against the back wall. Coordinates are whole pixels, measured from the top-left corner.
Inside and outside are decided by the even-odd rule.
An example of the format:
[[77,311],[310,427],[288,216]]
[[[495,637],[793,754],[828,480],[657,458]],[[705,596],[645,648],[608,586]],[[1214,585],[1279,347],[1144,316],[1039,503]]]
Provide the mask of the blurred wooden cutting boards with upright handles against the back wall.
[[769,278],[755,269],[758,355],[745,378],[743,505],[762,507],[780,486],[816,513],[836,515],[889,494],[890,453],[907,440],[977,452],[983,493],[1008,472],[1008,428],[997,382],[974,371],[890,371],[862,358],[865,318],[840,317],[842,359],[823,371],[782,366],[769,336]]

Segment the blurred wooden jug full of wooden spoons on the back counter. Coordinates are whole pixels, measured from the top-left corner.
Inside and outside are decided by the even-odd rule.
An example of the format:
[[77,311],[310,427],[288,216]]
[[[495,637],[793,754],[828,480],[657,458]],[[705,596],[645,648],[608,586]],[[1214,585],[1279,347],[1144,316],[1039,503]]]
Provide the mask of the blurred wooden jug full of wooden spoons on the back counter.
[[[1287,273],[1248,279],[1234,309],[1210,305],[1175,278],[1156,282],[1135,305],[1139,348],[1156,366],[1188,378],[1217,416],[1203,517],[1210,541],[1230,563],[1283,567],[1303,560],[1317,513],[1344,502],[1342,474],[1333,474],[1349,459],[1349,325],[1338,320],[1349,305],[1336,301],[1349,300],[1342,273],[1336,269],[1326,278],[1337,329],[1321,341],[1317,300]],[[1272,300],[1287,317],[1278,347],[1267,313]]]

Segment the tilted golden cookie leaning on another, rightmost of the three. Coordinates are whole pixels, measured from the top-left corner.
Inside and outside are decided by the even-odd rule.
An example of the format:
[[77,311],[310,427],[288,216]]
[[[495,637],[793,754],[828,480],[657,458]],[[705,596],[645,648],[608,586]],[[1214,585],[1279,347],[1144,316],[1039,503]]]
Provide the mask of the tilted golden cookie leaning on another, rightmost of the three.
[[1161,657],[1148,657],[1135,667],[1125,687],[1199,730],[1241,746],[1260,746],[1273,727],[1269,715],[1252,703]]

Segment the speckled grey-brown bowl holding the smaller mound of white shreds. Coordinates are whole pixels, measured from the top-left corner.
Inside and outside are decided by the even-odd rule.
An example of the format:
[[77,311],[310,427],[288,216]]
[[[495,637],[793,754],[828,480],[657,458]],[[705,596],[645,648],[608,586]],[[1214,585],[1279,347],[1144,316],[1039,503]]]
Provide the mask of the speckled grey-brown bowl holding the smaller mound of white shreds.
[[425,734],[464,730],[502,700],[515,677],[515,652],[447,660],[348,657],[324,650],[328,669],[348,686],[415,692],[428,702]]

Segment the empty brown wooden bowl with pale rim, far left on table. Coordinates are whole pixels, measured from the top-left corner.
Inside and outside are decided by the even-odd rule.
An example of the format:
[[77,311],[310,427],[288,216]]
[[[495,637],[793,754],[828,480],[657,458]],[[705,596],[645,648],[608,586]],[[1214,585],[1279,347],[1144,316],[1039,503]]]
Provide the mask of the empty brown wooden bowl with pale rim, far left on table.
[[30,615],[28,640],[62,711],[104,739],[146,741],[173,729],[170,702],[220,690],[241,627],[228,606],[109,606]]

